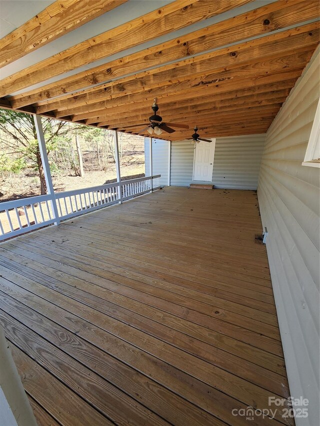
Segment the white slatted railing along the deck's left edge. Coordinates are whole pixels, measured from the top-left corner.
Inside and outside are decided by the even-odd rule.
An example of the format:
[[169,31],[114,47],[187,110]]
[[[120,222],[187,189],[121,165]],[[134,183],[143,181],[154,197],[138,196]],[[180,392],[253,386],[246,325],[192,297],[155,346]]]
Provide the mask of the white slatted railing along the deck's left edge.
[[160,187],[160,177],[147,176],[0,203],[0,241],[146,194]]

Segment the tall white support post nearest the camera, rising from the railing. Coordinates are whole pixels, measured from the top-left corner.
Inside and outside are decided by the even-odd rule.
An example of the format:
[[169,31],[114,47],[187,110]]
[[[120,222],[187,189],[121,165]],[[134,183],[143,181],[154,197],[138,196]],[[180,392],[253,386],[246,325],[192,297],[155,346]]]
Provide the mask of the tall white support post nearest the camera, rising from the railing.
[[47,156],[47,153],[46,153],[46,146],[45,146],[45,139],[44,139],[43,128],[42,128],[42,123],[41,123],[41,117],[40,117],[40,115],[35,114],[33,116],[33,119],[34,119],[34,125],[35,125],[35,130],[36,130],[36,136],[37,136],[37,139],[38,139],[38,145],[39,145],[42,165],[43,165],[43,172],[44,172],[44,177],[45,177],[46,189],[47,189],[48,195],[51,196],[50,203],[51,203],[51,210],[52,210],[52,213],[54,214],[54,219],[55,219],[54,224],[58,225],[60,223],[60,220],[59,220],[58,209],[56,207],[56,202],[55,202],[55,195],[54,195],[54,190],[53,190],[53,183],[52,183],[52,178],[51,178],[49,160],[48,160],[48,156]]

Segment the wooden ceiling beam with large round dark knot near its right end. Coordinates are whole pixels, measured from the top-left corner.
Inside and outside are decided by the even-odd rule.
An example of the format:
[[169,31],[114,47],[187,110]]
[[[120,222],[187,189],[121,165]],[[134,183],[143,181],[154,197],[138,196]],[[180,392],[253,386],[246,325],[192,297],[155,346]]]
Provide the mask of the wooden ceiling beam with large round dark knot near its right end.
[[[232,4],[230,4],[231,6]],[[18,107],[21,107],[42,99],[63,95],[66,92],[73,92],[91,84],[102,83],[111,78],[118,78],[127,73],[177,60],[203,50],[265,34],[317,16],[318,4],[316,1],[295,1],[294,5],[287,1],[276,1],[163,44],[63,78],[40,89],[14,96],[12,100],[17,102]],[[27,70],[27,75],[24,76],[24,87],[34,84],[38,80],[36,75],[32,75],[30,71],[32,70]],[[45,78],[48,78],[47,74],[45,74]],[[2,83],[4,84],[5,81]],[[17,90],[12,83],[5,88],[5,94]]]

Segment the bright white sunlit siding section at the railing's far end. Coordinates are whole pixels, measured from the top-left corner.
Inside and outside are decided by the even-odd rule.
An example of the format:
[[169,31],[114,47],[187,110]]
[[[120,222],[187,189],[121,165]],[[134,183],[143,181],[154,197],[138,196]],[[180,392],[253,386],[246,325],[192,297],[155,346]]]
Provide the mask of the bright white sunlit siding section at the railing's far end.
[[[168,161],[170,143],[166,140],[152,138],[152,173],[160,174],[160,185],[168,184]],[[150,143],[149,138],[144,138],[145,176],[150,175]]]

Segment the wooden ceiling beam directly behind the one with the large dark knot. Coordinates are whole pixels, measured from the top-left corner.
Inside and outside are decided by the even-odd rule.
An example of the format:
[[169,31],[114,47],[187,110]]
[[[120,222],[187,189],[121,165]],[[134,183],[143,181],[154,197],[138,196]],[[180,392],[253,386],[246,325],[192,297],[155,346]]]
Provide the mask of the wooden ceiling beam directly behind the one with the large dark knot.
[[[90,88],[82,92],[62,96],[58,99],[45,100],[34,104],[39,112],[52,109],[68,109],[70,105],[77,107],[98,101],[105,101],[165,87],[196,78],[207,78],[206,75],[227,72],[240,66],[249,66],[267,60],[288,57],[290,54],[315,49],[319,40],[319,22],[304,26],[301,33],[282,31],[276,34],[240,43],[214,52],[206,53],[180,62],[171,63],[147,72],[131,75],[123,79],[103,84],[98,88]],[[12,102],[16,108],[16,103]]]

